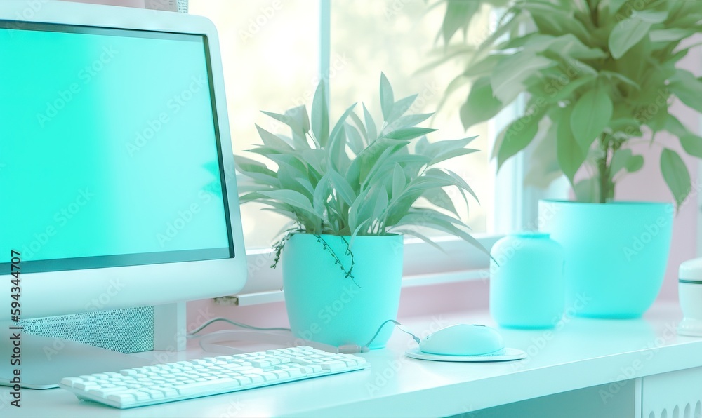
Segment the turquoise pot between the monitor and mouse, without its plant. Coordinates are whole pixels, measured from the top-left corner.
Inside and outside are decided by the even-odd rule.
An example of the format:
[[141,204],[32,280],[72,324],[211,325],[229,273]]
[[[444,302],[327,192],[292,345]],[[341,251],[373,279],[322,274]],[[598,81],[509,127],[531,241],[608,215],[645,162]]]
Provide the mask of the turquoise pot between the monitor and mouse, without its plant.
[[[283,292],[290,328],[296,337],[324,344],[364,346],[380,325],[397,317],[402,285],[402,236],[356,236],[352,243],[353,278],[348,269],[350,237],[295,234],[282,254]],[[369,346],[381,349],[392,324]]]

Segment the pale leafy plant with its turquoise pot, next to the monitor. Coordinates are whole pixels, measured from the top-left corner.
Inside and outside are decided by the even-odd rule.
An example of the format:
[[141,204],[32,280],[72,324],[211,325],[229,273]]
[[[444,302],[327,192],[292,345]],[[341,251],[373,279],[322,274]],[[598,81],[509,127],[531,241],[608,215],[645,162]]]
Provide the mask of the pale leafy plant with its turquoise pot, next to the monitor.
[[[241,203],[256,201],[289,217],[293,226],[274,245],[273,267],[282,262],[283,290],[291,329],[298,337],[327,344],[364,346],[388,319],[395,319],[402,281],[403,234],[422,238],[425,229],[479,244],[466,231],[444,188],[455,187],[468,205],[472,189],[438,163],[475,149],[473,138],[429,142],[435,129],[418,123],[431,114],[406,114],[417,95],[395,101],[380,76],[383,123],[362,106],[349,107],[333,123],[324,82],[311,114],[296,107],[281,121],[291,136],[257,126],[263,145],[251,152],[264,163],[235,156],[253,185],[240,187]],[[418,201],[428,205],[419,206]],[[477,198],[476,198],[477,200]],[[371,348],[385,346],[385,327]]]

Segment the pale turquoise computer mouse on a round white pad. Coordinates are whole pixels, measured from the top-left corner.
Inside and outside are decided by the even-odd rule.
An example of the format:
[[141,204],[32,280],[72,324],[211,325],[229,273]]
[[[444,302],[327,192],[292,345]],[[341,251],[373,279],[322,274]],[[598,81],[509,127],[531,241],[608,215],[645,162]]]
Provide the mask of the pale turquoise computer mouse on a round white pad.
[[457,324],[428,335],[419,343],[419,349],[440,356],[483,356],[499,354],[505,350],[505,343],[494,328]]

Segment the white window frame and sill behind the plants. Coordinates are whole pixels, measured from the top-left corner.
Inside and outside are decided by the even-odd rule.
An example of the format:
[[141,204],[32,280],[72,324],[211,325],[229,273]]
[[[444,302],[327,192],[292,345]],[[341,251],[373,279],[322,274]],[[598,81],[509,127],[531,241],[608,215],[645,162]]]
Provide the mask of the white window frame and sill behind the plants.
[[[319,76],[329,80],[331,65],[331,0],[319,0]],[[329,91],[333,88],[329,83]],[[491,128],[502,128],[506,122],[514,119],[522,111],[524,100],[505,109],[491,121]],[[491,129],[493,132],[498,130]],[[492,138],[494,141],[494,137]],[[491,144],[491,147],[494,144]],[[529,158],[520,153],[506,162],[495,178],[495,205],[488,220],[488,233],[474,234],[484,248],[490,250],[498,239],[510,231],[534,229],[536,227],[536,208],[540,198],[565,198],[567,194],[557,188],[553,191],[541,191],[534,187],[522,187]],[[491,174],[496,173],[496,163],[491,162]],[[237,174],[237,183],[246,184],[251,180]],[[515,210],[519,208],[519,210]],[[402,287],[419,285],[438,285],[464,281],[488,281],[490,258],[474,246],[460,238],[452,236],[439,237],[435,240],[444,250],[444,254],[416,238],[405,238]],[[272,249],[246,248],[249,276],[244,288],[232,297],[218,298],[223,304],[239,306],[282,302],[282,271],[271,269]]]

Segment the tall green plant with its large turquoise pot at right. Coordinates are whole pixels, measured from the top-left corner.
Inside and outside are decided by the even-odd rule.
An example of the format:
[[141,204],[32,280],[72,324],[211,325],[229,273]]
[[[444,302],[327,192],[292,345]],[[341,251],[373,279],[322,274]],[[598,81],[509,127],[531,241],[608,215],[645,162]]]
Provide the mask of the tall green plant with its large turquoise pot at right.
[[702,81],[676,67],[702,32],[702,8],[682,0],[449,0],[444,41],[486,4],[505,13],[479,46],[458,53],[467,65],[451,88],[472,83],[463,126],[527,93],[523,114],[496,139],[498,167],[534,143],[527,178],[566,175],[577,201],[542,201],[540,217],[566,250],[569,299],[590,299],[583,316],[640,316],[663,283],[674,209],[612,199],[616,182],[643,166],[631,147],[642,137],[662,149],[661,174],[677,207],[691,190],[682,158],[656,133],[668,131],[702,157],[702,137],[668,112],[672,97],[702,112]]

